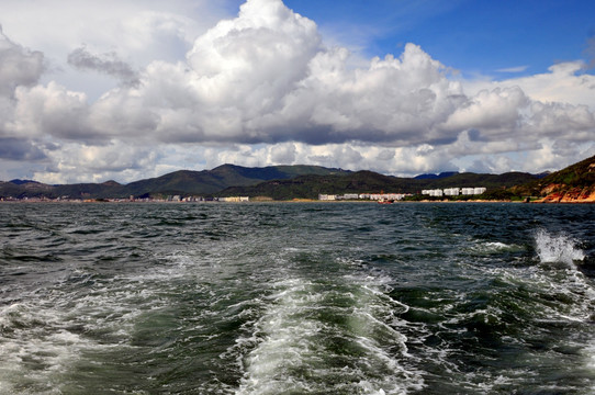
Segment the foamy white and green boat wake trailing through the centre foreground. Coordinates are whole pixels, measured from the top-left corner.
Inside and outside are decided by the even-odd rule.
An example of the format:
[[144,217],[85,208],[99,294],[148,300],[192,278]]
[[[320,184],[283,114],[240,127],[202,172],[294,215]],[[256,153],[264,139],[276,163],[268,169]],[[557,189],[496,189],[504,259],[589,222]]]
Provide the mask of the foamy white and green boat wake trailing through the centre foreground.
[[[337,281],[340,280],[340,281]],[[378,279],[282,279],[242,356],[237,394],[403,394],[424,386],[407,366],[396,314]],[[374,283],[374,284],[373,284]]]

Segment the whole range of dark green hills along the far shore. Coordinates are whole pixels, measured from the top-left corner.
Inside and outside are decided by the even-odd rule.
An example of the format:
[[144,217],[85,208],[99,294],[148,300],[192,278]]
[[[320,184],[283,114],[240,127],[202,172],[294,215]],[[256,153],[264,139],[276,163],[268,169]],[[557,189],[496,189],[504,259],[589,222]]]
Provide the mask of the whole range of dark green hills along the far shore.
[[[485,187],[494,199],[553,196],[572,201],[595,196],[595,157],[553,173],[507,172],[479,174],[442,172],[415,178],[384,176],[369,170],[349,171],[319,166],[269,166],[248,168],[222,165],[212,170],[178,170],[160,177],[121,184],[48,185],[32,180],[0,181],[0,198],[127,199],[148,196],[267,196],[274,200],[316,199],[319,193],[419,193],[424,189]],[[561,198],[562,196],[562,198]],[[565,196],[565,198],[563,198]]]

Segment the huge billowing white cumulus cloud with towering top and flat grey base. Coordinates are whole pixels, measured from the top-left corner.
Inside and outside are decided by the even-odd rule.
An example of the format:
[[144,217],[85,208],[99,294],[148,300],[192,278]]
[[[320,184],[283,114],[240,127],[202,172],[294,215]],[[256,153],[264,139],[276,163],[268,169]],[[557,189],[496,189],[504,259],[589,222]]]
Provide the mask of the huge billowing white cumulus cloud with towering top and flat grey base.
[[[469,94],[417,45],[405,45],[400,57],[372,58],[366,68],[350,68],[349,56],[325,47],[315,23],[281,1],[249,0],[237,18],[199,36],[186,64],[154,63],[143,87],[99,105],[145,109],[156,121],[148,132],[169,144],[449,145],[468,129],[483,139],[554,133],[539,129],[543,108],[519,84]],[[541,78],[570,82],[575,71],[559,65]],[[575,108],[550,109],[569,121],[559,129],[595,126],[588,114],[580,125],[570,122]]]

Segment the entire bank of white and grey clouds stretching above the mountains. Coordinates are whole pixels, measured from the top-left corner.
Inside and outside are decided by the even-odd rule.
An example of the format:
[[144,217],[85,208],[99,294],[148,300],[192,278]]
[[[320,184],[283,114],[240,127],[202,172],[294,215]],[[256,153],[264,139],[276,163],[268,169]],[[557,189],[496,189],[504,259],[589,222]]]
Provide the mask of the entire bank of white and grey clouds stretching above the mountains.
[[[126,23],[143,26],[141,46],[155,42],[145,40],[151,34],[190,41],[179,15],[138,18]],[[316,23],[281,0],[248,0],[237,16],[198,33],[186,56],[137,61],[138,69],[120,47],[72,47],[66,60],[74,68],[120,86],[89,101],[58,81],[41,82],[44,54],[0,35],[0,138],[12,147],[0,156],[49,161],[46,176],[36,173],[46,180],[130,181],[222,162],[398,174],[480,162],[532,169],[551,162],[538,153],[570,162],[595,149],[595,77],[581,61],[467,81],[409,43],[356,67],[348,49],[327,46]]]

